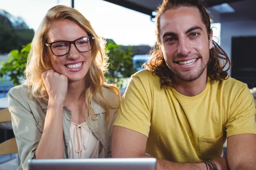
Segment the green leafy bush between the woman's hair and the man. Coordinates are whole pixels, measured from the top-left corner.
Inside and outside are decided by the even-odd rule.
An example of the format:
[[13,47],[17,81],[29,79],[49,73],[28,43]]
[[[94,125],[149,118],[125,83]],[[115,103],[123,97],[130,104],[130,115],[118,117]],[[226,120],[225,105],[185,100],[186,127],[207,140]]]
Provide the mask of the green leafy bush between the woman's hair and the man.
[[107,54],[109,57],[108,72],[106,79],[109,83],[116,83],[117,87],[122,87],[125,78],[131,77],[135,73],[131,55],[133,48],[122,49],[120,45],[116,45],[113,41],[109,41],[106,45]]

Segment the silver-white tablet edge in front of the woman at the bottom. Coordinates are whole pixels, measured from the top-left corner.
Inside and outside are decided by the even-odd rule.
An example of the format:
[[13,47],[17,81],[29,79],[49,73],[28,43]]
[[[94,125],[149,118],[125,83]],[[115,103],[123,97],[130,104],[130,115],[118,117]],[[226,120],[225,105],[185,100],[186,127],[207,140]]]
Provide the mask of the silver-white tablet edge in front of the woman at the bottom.
[[31,159],[29,170],[157,170],[154,158]]

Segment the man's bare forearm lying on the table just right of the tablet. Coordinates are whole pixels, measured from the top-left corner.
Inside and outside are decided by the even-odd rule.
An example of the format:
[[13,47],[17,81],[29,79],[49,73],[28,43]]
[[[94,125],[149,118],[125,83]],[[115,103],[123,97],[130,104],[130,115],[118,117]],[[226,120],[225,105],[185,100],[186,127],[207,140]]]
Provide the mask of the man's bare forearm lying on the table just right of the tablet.
[[[151,156],[140,156],[141,158],[154,158]],[[163,159],[157,159],[157,170],[207,170],[204,163],[175,163]]]

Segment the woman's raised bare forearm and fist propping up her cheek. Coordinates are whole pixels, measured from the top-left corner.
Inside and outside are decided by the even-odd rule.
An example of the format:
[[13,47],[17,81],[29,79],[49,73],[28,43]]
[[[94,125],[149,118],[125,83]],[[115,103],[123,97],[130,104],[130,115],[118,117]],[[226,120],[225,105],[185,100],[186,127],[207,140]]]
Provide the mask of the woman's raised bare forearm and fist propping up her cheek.
[[54,69],[41,75],[49,96],[44,131],[35,156],[37,159],[63,159],[63,103],[67,96],[68,79]]

